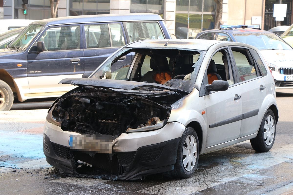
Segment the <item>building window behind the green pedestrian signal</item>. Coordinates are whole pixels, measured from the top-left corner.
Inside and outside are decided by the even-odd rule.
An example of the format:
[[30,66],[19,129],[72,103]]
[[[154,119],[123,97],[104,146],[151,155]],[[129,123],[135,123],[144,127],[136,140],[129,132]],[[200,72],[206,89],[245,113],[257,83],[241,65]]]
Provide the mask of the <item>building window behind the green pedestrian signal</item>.
[[[23,14],[24,8],[27,14]],[[42,20],[46,18],[51,18],[49,0],[29,0],[28,4],[23,4],[22,0],[14,0],[14,19]]]

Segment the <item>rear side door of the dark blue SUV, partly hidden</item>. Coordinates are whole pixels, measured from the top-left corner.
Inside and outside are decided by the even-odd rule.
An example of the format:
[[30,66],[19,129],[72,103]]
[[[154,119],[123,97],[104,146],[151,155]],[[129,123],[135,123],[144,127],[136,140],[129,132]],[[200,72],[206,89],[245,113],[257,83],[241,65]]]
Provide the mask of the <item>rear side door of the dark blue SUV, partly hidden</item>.
[[[85,73],[92,73],[105,59],[126,44],[122,23],[84,24],[83,29]],[[115,67],[111,67],[111,71],[130,64],[131,60],[132,54],[123,56],[115,63]]]

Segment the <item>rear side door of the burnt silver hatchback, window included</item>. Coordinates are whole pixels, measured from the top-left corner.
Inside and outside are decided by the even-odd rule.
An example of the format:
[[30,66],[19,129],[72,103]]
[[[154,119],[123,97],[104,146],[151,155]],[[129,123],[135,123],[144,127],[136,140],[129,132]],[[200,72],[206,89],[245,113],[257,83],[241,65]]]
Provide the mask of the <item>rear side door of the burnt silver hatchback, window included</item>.
[[[265,81],[248,48],[231,47],[236,75],[241,90],[242,121],[239,137],[257,132],[260,106],[265,101]],[[261,116],[262,118],[263,116]]]

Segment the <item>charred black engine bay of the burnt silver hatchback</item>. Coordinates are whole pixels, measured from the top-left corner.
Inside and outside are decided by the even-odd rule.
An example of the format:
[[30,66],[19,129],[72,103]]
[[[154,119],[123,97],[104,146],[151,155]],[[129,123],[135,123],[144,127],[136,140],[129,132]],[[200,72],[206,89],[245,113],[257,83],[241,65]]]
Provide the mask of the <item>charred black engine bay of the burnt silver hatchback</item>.
[[[108,88],[80,87],[59,99],[52,116],[64,131],[107,134],[116,139],[127,129],[168,119],[171,104],[182,95],[163,90],[121,93]],[[167,120],[166,120],[167,121]]]

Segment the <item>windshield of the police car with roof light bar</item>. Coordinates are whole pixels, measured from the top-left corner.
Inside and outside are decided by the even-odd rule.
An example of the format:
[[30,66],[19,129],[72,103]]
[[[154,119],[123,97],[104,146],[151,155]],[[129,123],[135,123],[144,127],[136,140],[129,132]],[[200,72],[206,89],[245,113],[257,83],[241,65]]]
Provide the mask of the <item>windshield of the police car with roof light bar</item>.
[[234,34],[237,42],[253,45],[259,50],[292,50],[280,37],[273,33]]

